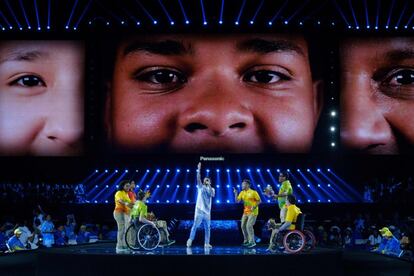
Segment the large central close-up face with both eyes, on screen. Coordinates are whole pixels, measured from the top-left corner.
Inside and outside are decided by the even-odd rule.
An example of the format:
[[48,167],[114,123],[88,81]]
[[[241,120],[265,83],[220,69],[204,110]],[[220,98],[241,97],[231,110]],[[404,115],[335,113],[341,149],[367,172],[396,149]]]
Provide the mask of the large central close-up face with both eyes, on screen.
[[323,92],[301,35],[130,36],[111,69],[105,121],[117,150],[311,150]]

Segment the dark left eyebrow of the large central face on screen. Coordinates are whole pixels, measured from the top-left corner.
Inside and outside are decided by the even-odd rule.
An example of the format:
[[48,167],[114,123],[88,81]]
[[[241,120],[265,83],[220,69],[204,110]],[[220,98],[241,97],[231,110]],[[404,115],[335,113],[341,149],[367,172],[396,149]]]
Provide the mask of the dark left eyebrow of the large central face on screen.
[[147,52],[156,55],[175,56],[191,54],[191,46],[185,46],[183,42],[176,40],[161,41],[135,41],[124,49],[124,56],[134,52]]

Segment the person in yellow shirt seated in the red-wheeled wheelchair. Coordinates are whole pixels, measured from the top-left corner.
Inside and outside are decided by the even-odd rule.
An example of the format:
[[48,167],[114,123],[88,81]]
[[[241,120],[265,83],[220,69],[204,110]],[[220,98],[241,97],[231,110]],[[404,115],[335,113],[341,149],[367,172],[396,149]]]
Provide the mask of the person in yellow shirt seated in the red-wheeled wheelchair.
[[277,224],[274,218],[269,219],[268,221],[268,229],[272,230],[272,234],[270,235],[269,247],[268,250],[274,249],[273,239],[274,237],[285,230],[295,230],[296,220],[298,215],[302,212],[300,209],[295,205],[296,204],[296,197],[294,195],[287,195],[286,199],[286,217],[285,221],[282,224]]

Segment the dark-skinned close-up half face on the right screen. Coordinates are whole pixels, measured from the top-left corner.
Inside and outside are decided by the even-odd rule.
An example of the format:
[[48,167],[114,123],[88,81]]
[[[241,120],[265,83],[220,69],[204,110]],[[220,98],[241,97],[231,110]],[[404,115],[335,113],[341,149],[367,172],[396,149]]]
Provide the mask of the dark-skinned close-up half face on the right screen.
[[412,153],[414,39],[347,38],[340,45],[341,141],[351,152]]

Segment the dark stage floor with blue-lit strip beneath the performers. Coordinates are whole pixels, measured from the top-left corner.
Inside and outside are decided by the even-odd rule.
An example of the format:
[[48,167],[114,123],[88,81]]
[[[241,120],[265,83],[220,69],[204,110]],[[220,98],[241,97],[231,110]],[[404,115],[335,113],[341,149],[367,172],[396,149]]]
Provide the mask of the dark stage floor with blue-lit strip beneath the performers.
[[409,275],[411,264],[363,251],[315,248],[271,254],[217,246],[116,254],[113,243],[18,252],[0,257],[0,275]]

